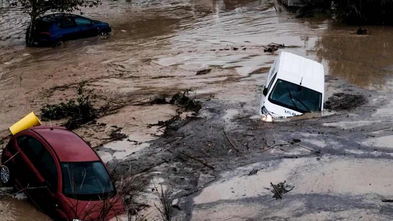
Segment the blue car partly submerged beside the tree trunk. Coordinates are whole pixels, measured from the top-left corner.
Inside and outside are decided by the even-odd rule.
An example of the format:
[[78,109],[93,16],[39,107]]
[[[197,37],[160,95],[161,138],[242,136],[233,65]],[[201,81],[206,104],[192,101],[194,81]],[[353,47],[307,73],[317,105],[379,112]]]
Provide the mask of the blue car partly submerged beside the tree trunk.
[[[80,15],[51,14],[37,19],[33,44],[58,46],[64,41],[108,35],[111,31],[109,24],[105,22]],[[26,33],[26,44],[27,42],[28,33]]]

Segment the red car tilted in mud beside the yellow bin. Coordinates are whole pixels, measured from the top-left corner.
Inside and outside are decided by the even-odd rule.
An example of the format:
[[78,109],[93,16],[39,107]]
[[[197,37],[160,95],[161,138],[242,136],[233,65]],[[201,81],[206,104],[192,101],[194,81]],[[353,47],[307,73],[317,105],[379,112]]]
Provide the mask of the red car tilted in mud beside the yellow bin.
[[97,153],[63,127],[31,127],[15,134],[1,161],[2,184],[17,184],[56,221],[107,221],[125,211]]

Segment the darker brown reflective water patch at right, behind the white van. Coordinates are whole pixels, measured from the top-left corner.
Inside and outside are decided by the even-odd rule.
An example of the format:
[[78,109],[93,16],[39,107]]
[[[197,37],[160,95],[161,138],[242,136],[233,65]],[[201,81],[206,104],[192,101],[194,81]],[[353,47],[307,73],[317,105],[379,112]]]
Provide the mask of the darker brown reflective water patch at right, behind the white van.
[[371,35],[356,35],[354,27],[330,26],[316,41],[316,55],[326,62],[329,73],[360,87],[391,85],[393,28],[367,29]]

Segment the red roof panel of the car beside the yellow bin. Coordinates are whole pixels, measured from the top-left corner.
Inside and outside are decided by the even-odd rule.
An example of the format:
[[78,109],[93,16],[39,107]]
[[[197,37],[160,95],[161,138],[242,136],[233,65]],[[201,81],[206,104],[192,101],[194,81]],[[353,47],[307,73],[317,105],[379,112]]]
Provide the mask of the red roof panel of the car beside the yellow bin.
[[77,134],[64,127],[32,127],[53,148],[61,162],[86,162],[100,160],[93,149]]

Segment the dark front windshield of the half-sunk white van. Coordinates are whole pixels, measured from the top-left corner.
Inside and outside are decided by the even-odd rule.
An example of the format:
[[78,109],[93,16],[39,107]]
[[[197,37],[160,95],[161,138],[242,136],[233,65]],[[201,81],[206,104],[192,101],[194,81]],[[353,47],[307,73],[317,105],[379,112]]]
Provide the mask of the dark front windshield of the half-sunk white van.
[[301,113],[321,111],[322,94],[315,90],[277,79],[269,101]]

